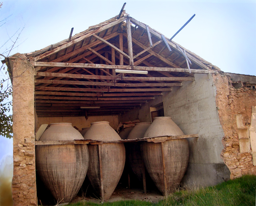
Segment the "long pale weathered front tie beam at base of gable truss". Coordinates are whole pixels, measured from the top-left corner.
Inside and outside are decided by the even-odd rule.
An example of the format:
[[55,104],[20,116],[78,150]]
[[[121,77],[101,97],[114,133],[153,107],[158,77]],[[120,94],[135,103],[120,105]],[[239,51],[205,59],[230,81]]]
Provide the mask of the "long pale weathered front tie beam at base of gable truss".
[[[47,66],[47,67],[74,67],[74,68],[102,68],[102,69],[132,69],[142,71],[163,71],[163,72],[186,72],[188,69],[172,68],[172,67],[150,67],[150,66],[127,66],[127,65],[104,65],[104,64],[82,64],[82,63],[63,63],[63,62],[30,62],[33,66]],[[192,73],[205,73],[208,70],[191,69]]]

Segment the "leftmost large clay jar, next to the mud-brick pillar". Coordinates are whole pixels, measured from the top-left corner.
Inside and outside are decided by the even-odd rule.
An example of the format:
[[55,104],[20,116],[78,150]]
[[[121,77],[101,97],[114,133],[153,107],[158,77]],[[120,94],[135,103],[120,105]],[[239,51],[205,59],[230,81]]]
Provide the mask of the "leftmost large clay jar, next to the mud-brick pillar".
[[[40,141],[78,140],[71,123],[53,123]],[[36,169],[57,202],[71,202],[84,182],[89,164],[86,144],[37,145]]]

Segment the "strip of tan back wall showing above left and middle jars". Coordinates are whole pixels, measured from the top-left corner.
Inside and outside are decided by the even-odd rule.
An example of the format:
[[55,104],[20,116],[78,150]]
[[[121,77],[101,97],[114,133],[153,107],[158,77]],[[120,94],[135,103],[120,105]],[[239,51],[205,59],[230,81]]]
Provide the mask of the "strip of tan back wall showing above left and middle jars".
[[42,124],[51,124],[58,122],[70,122],[72,126],[76,126],[79,130],[84,127],[90,127],[92,122],[108,121],[109,125],[116,130],[118,126],[118,116],[117,115],[105,115],[105,116],[89,116],[86,119],[84,116],[79,117],[38,117],[36,123],[36,131]]

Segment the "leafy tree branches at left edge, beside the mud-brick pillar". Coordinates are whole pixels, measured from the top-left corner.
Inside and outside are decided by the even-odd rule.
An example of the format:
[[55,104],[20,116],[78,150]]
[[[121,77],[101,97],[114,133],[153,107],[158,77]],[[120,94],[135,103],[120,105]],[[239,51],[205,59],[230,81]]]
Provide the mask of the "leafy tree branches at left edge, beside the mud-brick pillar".
[[[4,20],[0,21],[0,27],[5,25],[8,22],[7,17]],[[6,42],[0,47],[0,56],[6,58],[9,57],[11,51],[17,48],[20,44],[18,44],[18,40],[20,34],[24,27],[19,28],[12,36],[9,36],[7,32],[8,39]],[[18,44],[18,45],[17,45]],[[10,82],[10,78],[7,74],[7,70],[5,70],[5,64],[0,67],[0,135],[5,136],[7,138],[12,137],[12,115],[9,114],[12,108],[12,84]]]

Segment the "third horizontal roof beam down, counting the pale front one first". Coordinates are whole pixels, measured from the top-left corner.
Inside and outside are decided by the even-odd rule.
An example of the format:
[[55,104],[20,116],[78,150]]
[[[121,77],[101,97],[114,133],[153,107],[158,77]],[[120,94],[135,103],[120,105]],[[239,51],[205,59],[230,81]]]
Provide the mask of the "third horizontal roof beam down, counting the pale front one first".
[[111,87],[172,87],[182,86],[182,83],[107,83],[91,81],[70,81],[70,80],[35,80],[35,83],[41,84],[60,84],[60,85],[94,85]]

